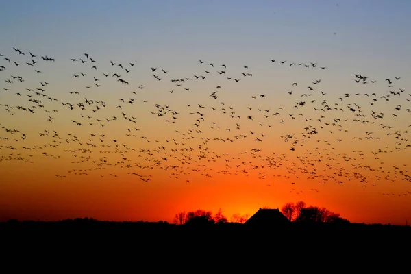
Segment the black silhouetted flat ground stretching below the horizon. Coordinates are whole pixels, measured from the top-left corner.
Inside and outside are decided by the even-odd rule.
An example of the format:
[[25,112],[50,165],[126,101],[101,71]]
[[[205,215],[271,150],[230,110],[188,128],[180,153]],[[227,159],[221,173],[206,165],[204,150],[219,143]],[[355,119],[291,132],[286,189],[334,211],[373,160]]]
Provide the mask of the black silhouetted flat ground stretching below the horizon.
[[[261,269],[267,272],[273,264],[280,264],[281,272],[284,268],[294,269],[290,272],[301,269],[340,272],[355,264],[357,268],[362,265],[362,270],[369,273],[388,263],[393,264],[392,272],[393,267],[401,265],[394,263],[395,260],[408,262],[411,227],[353,223],[177,226],[163,222],[75,219],[8,221],[0,223],[0,236],[2,262],[12,263],[21,270],[32,266],[43,269],[50,264],[61,268],[82,262],[95,268],[94,272],[105,269],[108,264],[127,266],[127,272],[130,267],[135,268],[134,272],[141,272],[142,266],[149,265],[152,270],[149,272],[155,273],[175,269],[190,273],[206,269],[229,273],[248,269],[258,273]],[[55,273],[59,272],[65,273],[66,269]]]

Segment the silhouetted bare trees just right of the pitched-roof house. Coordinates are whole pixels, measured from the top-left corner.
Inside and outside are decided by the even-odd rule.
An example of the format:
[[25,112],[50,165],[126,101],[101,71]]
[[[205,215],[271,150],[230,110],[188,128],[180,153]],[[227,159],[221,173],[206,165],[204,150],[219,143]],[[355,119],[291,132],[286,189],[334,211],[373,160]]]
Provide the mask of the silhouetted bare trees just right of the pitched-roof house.
[[286,203],[282,206],[282,214],[292,222],[300,223],[349,223],[340,214],[332,212],[327,208],[318,206],[306,206],[304,201],[297,203]]

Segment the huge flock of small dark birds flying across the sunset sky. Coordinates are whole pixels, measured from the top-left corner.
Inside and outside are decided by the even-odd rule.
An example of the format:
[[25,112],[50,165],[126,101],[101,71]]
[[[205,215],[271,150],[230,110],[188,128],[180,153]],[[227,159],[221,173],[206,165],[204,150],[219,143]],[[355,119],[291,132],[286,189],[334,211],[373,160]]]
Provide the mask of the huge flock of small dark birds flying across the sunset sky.
[[[411,148],[411,125],[406,125],[411,94],[399,75],[371,79],[353,74],[353,84],[361,86],[341,94],[324,91],[321,78],[309,83],[296,79],[288,90],[275,91],[282,100],[252,91],[248,105],[241,105],[225,86],[235,90],[255,79],[247,65],[233,73],[228,64],[198,60],[195,73],[180,77],[165,68],[140,67],[149,77],[136,84],[137,62],[102,62],[83,53],[65,60],[73,73],[51,77],[61,60],[18,48],[10,52],[0,54],[3,168],[10,161],[63,158],[73,167],[62,164],[53,174],[61,179],[96,171],[101,177],[135,175],[149,182],[165,172],[170,179],[195,183],[192,175],[219,173],[266,180],[264,186],[290,184],[297,194],[303,194],[301,180],[310,182],[314,192],[319,183],[374,187],[411,182],[405,158]],[[315,62],[266,62],[277,70],[300,67],[316,75],[328,70]],[[66,79],[59,77],[71,77],[73,90],[61,91],[66,87],[59,82]],[[192,84],[209,79],[219,84],[207,94]],[[360,91],[365,84],[371,92]],[[30,129],[25,130],[26,123]],[[153,137],[156,132],[160,136]]]

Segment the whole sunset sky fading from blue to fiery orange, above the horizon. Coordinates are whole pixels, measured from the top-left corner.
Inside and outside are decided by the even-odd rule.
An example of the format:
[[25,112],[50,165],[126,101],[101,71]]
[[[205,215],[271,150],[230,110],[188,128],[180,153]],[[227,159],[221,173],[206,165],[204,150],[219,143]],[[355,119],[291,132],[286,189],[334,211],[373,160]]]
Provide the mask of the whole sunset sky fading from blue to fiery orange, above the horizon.
[[410,9],[3,3],[0,221],[229,219],[305,201],[406,224]]

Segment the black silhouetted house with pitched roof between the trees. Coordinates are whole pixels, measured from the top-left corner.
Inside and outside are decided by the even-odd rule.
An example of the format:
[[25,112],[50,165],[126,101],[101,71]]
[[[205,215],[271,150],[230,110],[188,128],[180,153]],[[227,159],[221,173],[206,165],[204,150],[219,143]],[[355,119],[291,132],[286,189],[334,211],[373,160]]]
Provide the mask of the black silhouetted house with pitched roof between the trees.
[[244,224],[253,227],[282,227],[290,221],[278,208],[260,208]]

